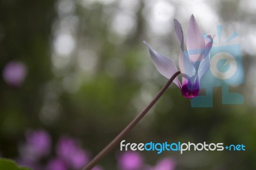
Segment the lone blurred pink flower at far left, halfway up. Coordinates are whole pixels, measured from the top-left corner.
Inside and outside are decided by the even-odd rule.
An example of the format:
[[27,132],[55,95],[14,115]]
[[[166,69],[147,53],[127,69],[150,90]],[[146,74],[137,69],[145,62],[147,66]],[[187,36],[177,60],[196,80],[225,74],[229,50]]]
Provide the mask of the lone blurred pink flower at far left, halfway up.
[[26,77],[26,66],[21,62],[11,61],[3,70],[3,79],[6,84],[20,86]]

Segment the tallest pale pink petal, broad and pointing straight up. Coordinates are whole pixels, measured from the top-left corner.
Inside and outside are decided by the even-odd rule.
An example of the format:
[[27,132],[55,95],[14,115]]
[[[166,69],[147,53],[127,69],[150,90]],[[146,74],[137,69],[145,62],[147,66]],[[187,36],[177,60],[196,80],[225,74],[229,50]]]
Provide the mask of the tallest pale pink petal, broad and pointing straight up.
[[186,40],[190,61],[200,61],[204,56],[205,42],[194,15],[191,15],[189,20]]

